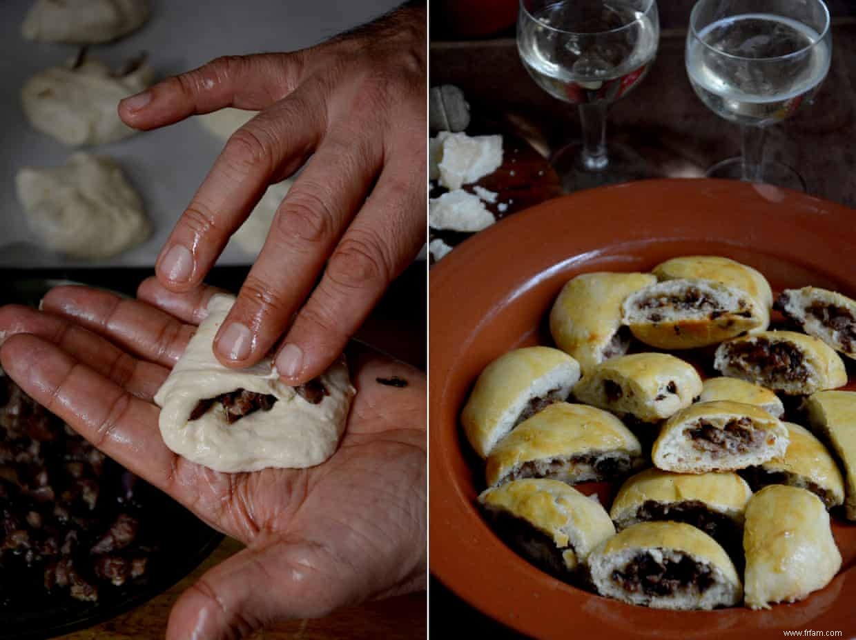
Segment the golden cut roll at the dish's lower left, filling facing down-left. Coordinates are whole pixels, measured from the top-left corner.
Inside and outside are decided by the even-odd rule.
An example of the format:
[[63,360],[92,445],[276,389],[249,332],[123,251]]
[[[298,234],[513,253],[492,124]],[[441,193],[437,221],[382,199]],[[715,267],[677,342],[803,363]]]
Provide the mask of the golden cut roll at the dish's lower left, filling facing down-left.
[[486,489],[479,503],[498,536],[560,578],[575,572],[591,549],[615,534],[599,502],[557,480],[514,480]]

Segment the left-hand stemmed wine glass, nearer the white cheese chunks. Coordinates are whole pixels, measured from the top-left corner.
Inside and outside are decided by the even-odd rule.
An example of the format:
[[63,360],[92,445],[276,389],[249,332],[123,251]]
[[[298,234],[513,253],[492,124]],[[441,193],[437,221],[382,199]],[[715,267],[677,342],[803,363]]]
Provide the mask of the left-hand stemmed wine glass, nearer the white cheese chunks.
[[656,0],[520,0],[523,66],[544,91],[580,110],[581,148],[552,157],[568,191],[650,177],[638,159],[607,153],[606,111],[645,78],[659,38]]

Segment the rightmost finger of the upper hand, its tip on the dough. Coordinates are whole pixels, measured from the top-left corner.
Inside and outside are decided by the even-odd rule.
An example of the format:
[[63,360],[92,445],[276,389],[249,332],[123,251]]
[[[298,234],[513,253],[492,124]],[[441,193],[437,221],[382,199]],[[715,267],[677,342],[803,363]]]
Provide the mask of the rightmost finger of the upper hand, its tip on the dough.
[[387,164],[276,354],[276,370],[288,384],[306,382],[332,364],[425,242],[425,200],[414,187],[419,171],[401,175],[395,166]]

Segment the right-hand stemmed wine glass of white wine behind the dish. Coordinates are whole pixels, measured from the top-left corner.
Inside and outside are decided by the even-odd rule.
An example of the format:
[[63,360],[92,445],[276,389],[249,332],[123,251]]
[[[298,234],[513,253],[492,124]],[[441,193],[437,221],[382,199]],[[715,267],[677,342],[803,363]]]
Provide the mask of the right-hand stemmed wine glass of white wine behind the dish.
[[810,102],[829,72],[832,35],[822,0],[699,0],[687,32],[687,74],[710,110],[742,129],[742,157],[711,178],[805,191],[800,174],[764,162],[764,137]]

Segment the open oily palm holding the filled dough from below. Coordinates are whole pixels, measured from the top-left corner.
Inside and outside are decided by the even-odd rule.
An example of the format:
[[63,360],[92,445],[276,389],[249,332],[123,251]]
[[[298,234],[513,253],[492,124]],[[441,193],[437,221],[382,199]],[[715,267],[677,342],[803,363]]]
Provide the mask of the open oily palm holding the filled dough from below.
[[[43,311],[0,309],[0,363],[27,394],[247,544],[181,596],[167,637],[236,637],[276,619],[323,616],[424,589],[425,377],[419,371],[377,353],[352,354],[358,393],[342,443],[310,469],[218,473],[163,444],[152,395],[213,293],[211,287],[170,293],[152,278],[140,286],[140,300],[56,287]],[[378,376],[410,384],[387,387]]]

